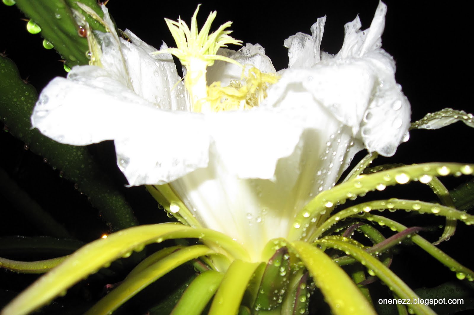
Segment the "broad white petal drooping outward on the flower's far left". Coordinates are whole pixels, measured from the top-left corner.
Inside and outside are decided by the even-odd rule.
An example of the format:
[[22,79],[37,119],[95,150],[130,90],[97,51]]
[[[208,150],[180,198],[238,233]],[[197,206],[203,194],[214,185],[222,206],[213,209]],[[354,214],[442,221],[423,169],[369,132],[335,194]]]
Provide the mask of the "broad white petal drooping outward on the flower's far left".
[[40,95],[33,127],[61,143],[115,141],[130,185],[163,184],[208,161],[203,115],[159,110],[95,66],[74,67]]

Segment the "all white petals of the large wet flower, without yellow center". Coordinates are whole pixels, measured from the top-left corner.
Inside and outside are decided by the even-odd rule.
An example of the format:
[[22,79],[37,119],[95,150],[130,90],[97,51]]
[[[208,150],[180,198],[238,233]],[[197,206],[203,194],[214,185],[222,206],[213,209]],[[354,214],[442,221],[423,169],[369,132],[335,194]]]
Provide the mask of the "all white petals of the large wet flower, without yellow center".
[[[246,111],[191,112],[195,99],[178,83],[171,55],[153,55],[130,31],[128,42],[109,27],[100,34],[102,67],[74,67],[67,79],[51,81],[32,124],[62,143],[114,140],[130,185],[169,183],[195,216],[191,225],[232,236],[257,261],[267,241],[287,236],[306,203],[335,185],[356,152],[390,156],[408,139],[410,104],[380,48],[385,11],[380,3],[365,31],[358,18],[347,23],[335,56],[319,49],[325,18],[312,36],[285,40],[289,68]],[[275,71],[258,44],[218,54]],[[206,78],[225,86],[241,71],[217,60]]]

